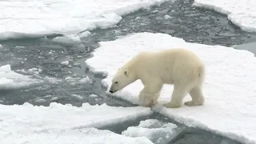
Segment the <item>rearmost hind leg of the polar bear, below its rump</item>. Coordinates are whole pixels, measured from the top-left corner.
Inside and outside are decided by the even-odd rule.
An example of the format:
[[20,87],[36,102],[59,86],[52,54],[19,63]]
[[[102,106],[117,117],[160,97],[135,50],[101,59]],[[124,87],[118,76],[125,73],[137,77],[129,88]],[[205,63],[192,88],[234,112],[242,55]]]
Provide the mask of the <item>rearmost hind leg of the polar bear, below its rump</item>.
[[205,102],[205,98],[202,94],[202,87],[195,86],[190,90],[191,101],[185,102],[186,106],[202,106]]

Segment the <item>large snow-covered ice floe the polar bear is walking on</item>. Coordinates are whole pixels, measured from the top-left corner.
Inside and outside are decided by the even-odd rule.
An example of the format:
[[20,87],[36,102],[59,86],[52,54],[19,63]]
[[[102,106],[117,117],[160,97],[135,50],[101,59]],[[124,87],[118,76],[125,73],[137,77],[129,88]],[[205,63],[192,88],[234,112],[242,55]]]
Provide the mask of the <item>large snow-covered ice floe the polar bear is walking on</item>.
[[[94,56],[87,59],[86,64],[91,71],[107,74],[102,85],[107,86],[106,92],[109,93],[111,78],[134,54],[142,50],[174,47],[192,50],[206,63],[206,104],[166,109],[161,104],[170,102],[173,86],[165,85],[158,99],[159,104],[153,110],[186,125],[214,130],[242,143],[256,143],[256,58],[247,50],[188,43],[168,34],[138,33],[100,42],[100,47],[94,50]],[[138,103],[140,90],[142,82],[136,81],[113,96]],[[188,94],[184,101],[190,99]]]

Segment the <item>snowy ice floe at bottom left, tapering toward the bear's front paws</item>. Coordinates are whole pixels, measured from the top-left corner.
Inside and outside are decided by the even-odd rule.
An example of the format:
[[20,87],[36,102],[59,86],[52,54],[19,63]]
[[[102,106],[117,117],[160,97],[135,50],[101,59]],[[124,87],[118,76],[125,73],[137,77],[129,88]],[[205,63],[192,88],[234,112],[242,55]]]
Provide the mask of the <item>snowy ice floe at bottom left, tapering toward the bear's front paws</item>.
[[[149,143],[147,138],[130,138],[109,130],[97,130],[112,122],[122,122],[151,114],[144,107],[82,107],[51,103],[50,106],[0,105],[0,143]],[[39,138],[39,139],[38,139]]]

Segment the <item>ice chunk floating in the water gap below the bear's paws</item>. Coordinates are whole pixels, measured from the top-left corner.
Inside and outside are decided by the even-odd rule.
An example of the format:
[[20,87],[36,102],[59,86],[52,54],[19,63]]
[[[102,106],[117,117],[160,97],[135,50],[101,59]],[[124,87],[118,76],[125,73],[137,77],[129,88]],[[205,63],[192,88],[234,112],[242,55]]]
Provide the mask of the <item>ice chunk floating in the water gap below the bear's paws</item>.
[[129,137],[146,137],[151,142],[168,143],[182,132],[182,128],[179,128],[173,123],[160,122],[157,119],[147,119],[141,121],[138,126],[130,126],[122,134]]

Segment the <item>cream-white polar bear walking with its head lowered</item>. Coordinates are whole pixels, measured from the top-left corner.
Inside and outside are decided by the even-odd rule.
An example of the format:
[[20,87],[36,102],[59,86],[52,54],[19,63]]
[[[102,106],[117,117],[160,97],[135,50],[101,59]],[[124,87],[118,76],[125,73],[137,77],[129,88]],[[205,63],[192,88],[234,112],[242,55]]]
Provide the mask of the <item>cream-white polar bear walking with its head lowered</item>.
[[174,48],[159,51],[142,51],[118,69],[112,78],[110,93],[122,90],[125,86],[141,80],[144,88],[139,94],[140,106],[154,106],[164,84],[174,85],[170,102],[163,106],[182,106],[186,94],[192,100],[186,106],[202,106],[205,102],[202,85],[205,78],[205,65],[190,50]]

